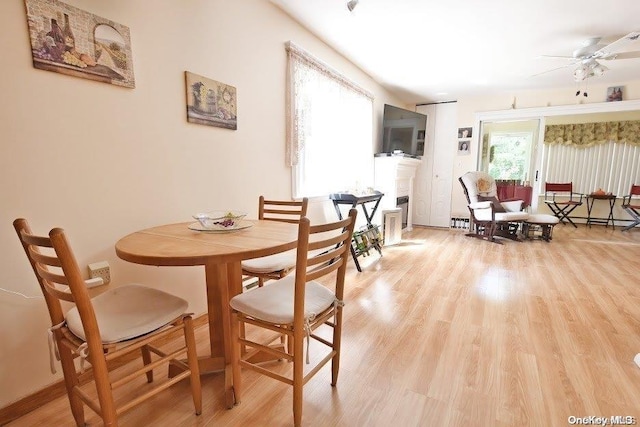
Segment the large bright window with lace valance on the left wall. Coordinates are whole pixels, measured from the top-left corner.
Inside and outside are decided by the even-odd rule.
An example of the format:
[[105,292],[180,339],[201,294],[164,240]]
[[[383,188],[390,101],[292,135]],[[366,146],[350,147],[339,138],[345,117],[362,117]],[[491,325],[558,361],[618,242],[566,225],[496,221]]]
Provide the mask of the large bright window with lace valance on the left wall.
[[291,42],[287,52],[287,160],[293,197],[370,186],[372,95]]

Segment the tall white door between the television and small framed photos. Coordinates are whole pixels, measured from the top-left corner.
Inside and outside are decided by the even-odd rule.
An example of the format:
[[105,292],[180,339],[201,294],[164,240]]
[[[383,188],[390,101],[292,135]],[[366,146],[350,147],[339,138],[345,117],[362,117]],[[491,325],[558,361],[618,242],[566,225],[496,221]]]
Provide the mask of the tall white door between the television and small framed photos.
[[414,183],[413,223],[449,227],[453,161],[457,149],[458,106],[455,102],[418,106],[427,114],[425,155]]

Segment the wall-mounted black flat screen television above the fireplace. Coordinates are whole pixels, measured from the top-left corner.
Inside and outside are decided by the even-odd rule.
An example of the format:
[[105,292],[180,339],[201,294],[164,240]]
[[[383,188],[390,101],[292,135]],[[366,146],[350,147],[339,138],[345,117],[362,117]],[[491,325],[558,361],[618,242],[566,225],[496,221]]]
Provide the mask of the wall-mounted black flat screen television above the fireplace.
[[382,122],[382,153],[424,155],[426,115],[385,104]]

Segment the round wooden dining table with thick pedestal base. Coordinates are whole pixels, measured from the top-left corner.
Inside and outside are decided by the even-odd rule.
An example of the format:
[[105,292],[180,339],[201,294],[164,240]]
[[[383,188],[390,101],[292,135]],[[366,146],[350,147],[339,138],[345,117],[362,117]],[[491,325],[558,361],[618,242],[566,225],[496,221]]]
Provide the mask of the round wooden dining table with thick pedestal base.
[[160,225],[131,233],[116,243],[125,261],[155,266],[204,266],[211,353],[200,357],[200,372],[224,371],[227,406],[234,404],[230,372],[229,299],[242,292],[241,262],[294,249],[298,225],[245,220],[247,228],[195,231],[190,223]]

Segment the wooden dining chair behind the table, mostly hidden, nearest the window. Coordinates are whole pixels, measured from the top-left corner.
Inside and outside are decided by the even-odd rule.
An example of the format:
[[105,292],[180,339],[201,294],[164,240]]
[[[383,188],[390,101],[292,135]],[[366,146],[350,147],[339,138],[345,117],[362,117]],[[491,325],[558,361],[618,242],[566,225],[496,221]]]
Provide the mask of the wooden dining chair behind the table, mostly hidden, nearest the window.
[[[300,218],[307,215],[309,200],[266,200],[260,196],[258,200],[258,219],[298,223]],[[242,274],[256,277],[258,286],[262,287],[265,280],[281,279],[293,270],[296,265],[295,250],[242,261]]]

